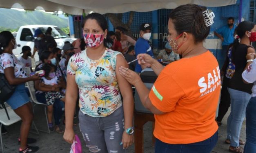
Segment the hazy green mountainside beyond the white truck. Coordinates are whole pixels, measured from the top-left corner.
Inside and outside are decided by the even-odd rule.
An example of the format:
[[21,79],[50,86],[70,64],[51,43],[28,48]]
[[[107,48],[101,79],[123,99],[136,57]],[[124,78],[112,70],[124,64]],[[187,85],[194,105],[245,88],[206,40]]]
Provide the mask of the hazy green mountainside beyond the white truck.
[[17,29],[20,26],[31,24],[48,24],[65,28],[68,20],[42,11],[18,11],[0,8],[0,27]]

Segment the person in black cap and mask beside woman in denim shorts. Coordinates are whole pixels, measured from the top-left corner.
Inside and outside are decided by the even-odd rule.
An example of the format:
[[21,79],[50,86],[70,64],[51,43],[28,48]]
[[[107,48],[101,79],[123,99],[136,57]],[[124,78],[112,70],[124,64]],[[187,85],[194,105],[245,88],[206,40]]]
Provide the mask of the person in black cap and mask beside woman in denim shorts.
[[19,60],[24,64],[25,67],[29,67],[32,72],[32,63],[31,63],[31,48],[29,46],[23,46],[22,52],[20,54],[23,54],[21,57],[19,57]]

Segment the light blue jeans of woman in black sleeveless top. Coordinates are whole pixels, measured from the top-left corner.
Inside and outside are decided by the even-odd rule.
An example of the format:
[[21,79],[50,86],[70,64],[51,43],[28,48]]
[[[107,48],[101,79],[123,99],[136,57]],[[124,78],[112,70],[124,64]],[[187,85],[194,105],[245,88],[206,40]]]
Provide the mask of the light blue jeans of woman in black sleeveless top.
[[239,136],[245,111],[251,95],[247,92],[227,88],[230,94],[230,114],[227,118],[227,139],[230,140],[230,146],[239,146]]

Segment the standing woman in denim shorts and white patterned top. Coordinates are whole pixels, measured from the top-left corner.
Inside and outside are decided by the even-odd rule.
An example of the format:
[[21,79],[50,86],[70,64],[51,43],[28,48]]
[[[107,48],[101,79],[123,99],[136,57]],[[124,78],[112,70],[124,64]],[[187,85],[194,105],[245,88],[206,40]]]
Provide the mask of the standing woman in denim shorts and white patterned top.
[[38,146],[28,146],[28,143],[36,142],[28,138],[29,129],[33,120],[32,104],[25,90],[25,83],[39,80],[38,74],[28,77],[24,71],[24,65],[13,54],[12,50],[17,46],[15,38],[9,31],[0,33],[0,73],[5,75],[10,85],[16,85],[15,92],[6,101],[14,112],[20,116],[22,123],[20,127],[20,153],[38,151]]

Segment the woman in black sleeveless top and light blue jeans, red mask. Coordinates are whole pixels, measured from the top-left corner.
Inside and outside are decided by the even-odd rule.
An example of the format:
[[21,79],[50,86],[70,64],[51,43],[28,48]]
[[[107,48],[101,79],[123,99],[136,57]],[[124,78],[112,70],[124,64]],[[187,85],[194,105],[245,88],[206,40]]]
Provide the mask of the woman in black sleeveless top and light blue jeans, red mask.
[[229,151],[235,153],[243,152],[240,144],[244,143],[239,140],[239,137],[246,107],[251,98],[253,84],[245,84],[242,79],[242,73],[247,64],[246,55],[255,53],[254,48],[250,45],[250,42],[256,41],[255,35],[252,35],[255,30],[253,22],[241,22],[236,28],[240,42],[236,38],[232,44],[231,62],[234,63],[235,71],[227,85],[231,99],[231,112],[227,118],[227,139],[225,142],[230,143]]

